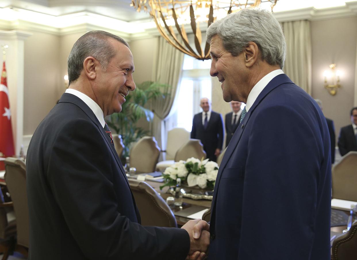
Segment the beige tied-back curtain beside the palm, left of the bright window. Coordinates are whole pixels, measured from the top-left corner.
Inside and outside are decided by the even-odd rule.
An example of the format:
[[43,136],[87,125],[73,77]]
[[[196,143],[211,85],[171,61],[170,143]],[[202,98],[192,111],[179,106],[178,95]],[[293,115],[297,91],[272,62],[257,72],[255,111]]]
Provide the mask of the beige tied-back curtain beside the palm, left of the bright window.
[[183,52],[176,50],[162,37],[158,37],[156,55],[154,57],[152,79],[156,82],[171,86],[167,91],[169,95],[165,99],[156,100],[152,104],[154,120],[151,124],[151,132],[161,149],[166,147],[165,119],[169,116],[174,103],[178,84],[182,73]]

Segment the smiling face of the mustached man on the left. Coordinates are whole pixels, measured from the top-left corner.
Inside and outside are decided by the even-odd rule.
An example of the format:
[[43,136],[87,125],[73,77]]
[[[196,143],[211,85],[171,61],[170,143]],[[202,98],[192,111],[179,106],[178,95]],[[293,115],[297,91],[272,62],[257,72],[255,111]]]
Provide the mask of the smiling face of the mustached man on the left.
[[115,39],[108,39],[116,54],[108,63],[107,69],[96,68],[94,95],[104,116],[119,113],[125,96],[135,90],[132,77],[134,60],[128,47]]

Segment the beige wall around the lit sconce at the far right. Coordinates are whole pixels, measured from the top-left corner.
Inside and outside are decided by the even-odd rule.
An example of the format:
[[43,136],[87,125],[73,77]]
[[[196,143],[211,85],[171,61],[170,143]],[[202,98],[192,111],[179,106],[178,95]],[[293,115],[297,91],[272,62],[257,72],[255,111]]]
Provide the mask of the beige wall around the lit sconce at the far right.
[[[312,97],[323,102],[323,113],[335,123],[336,139],[340,128],[350,124],[356,73],[357,17],[311,22]],[[331,96],[323,87],[323,72],[331,63],[343,72],[342,88]]]

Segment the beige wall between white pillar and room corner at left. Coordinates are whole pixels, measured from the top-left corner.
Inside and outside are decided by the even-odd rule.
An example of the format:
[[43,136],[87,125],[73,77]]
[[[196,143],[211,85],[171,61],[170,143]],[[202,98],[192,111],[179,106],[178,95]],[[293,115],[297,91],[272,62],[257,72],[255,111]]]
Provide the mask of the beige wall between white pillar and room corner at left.
[[[30,31],[25,40],[24,135],[33,134],[61,90],[59,36]],[[63,82],[63,81],[62,81]]]

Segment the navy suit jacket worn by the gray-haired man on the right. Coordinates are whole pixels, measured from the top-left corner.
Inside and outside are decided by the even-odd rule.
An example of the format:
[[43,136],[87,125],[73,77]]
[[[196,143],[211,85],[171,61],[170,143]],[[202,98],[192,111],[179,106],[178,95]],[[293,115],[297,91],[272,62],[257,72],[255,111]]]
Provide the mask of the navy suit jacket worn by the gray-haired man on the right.
[[325,117],[285,75],[273,78],[222,159],[208,259],[330,259],[331,157]]

